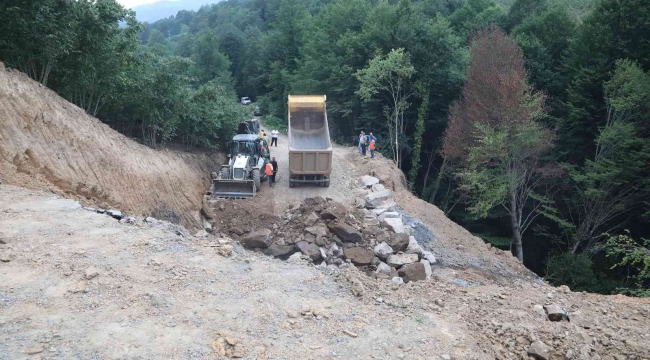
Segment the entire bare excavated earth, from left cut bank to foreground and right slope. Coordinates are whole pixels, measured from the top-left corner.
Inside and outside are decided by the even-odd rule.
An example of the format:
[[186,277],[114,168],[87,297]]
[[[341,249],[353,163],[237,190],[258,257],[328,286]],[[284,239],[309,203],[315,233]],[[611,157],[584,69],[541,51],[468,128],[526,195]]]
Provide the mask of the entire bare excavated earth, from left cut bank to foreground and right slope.
[[[334,146],[331,187],[290,189],[281,136],[276,186],[206,199],[217,161],[142,147],[4,69],[0,111],[2,360],[650,359],[650,300],[545,284],[410,194],[381,155]],[[364,209],[381,191],[364,175],[436,258],[430,277],[377,275],[367,251],[395,231]],[[363,238],[341,241],[337,224]]]

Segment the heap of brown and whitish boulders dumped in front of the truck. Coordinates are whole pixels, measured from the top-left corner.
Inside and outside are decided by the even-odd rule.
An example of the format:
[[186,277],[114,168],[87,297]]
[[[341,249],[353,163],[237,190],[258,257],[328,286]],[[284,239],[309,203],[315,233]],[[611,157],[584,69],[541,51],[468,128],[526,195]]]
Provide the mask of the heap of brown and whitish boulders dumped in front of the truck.
[[283,260],[300,256],[315,264],[354,265],[375,278],[405,283],[428,279],[435,257],[403,223],[392,192],[377,178],[364,176],[362,182],[355,209],[320,196],[307,198],[287,210],[273,230],[243,234],[239,241]]

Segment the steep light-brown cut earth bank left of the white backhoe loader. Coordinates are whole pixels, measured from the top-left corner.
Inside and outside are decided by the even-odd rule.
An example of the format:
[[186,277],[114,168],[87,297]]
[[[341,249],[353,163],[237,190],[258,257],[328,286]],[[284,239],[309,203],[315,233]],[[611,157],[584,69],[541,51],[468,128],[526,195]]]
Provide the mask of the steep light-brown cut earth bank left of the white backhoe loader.
[[219,160],[140,145],[0,63],[0,182],[198,226]]

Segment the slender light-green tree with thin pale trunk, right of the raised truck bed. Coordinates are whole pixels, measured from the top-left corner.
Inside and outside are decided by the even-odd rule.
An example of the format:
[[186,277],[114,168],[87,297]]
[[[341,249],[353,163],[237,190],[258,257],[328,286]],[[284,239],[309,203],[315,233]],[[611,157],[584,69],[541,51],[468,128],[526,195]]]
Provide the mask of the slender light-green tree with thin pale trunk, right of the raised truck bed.
[[378,55],[370,60],[368,67],[356,73],[361,83],[357,94],[364,101],[381,96],[388,103],[384,106],[384,115],[389,122],[393,161],[398,168],[402,166],[400,152],[404,147],[404,112],[410,105],[408,99],[414,93],[410,81],[414,73],[415,68],[404,49],[391,50],[385,58]]

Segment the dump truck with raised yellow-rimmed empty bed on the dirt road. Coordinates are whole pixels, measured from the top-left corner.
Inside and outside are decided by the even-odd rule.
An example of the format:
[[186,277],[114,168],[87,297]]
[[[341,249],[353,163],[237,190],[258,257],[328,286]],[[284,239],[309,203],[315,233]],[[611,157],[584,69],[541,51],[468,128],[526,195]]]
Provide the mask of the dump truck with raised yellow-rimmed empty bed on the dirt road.
[[289,95],[289,187],[330,186],[332,143],[325,95]]

